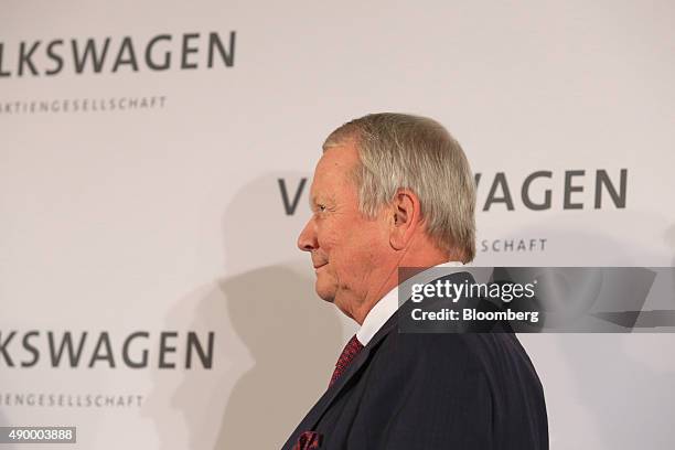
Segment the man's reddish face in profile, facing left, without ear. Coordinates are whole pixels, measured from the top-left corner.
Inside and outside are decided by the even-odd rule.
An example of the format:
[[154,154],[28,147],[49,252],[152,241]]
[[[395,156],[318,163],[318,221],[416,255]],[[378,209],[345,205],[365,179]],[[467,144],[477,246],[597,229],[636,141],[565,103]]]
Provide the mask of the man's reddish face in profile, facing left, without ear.
[[350,317],[351,306],[373,289],[372,272],[388,243],[386,217],[368,219],[358,211],[357,164],[351,141],[323,153],[310,191],[313,214],[298,238],[298,247],[311,253],[317,293]]

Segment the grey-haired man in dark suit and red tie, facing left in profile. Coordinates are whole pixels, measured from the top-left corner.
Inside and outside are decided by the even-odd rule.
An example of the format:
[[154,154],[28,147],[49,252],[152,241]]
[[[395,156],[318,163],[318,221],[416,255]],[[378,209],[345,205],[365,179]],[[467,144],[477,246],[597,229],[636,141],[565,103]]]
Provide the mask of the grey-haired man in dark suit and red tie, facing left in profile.
[[361,328],[294,449],[547,449],[544,393],[512,333],[405,334],[399,267],[475,253],[475,192],[459,143],[435,120],[375,114],[333,131],[311,186],[319,297]]

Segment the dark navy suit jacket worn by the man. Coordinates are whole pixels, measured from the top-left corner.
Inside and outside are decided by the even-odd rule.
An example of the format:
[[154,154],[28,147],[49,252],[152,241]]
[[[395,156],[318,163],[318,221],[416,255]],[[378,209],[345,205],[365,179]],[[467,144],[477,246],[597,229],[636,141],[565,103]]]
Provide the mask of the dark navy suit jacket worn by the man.
[[548,449],[544,392],[515,334],[398,332],[398,312],[289,437],[322,450]]

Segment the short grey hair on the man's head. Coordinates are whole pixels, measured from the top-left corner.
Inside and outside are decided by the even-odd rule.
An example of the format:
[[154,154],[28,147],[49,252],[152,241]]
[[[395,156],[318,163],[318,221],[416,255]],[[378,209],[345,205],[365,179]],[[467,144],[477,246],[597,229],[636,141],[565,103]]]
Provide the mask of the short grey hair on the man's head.
[[442,125],[406,114],[371,114],[338,128],[323,151],[354,140],[360,211],[374,217],[400,189],[419,197],[428,235],[463,262],[475,256],[475,185],[460,144]]

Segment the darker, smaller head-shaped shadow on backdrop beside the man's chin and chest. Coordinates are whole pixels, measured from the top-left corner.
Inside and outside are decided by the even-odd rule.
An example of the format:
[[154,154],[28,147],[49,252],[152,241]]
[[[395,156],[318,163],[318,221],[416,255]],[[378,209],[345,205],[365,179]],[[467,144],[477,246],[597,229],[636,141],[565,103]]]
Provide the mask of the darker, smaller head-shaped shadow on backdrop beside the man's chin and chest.
[[332,350],[342,342],[340,323],[318,313],[325,309],[308,297],[313,280],[287,269],[254,270],[222,286],[233,299],[233,326],[256,364],[229,396],[214,450],[281,448],[328,387]]

